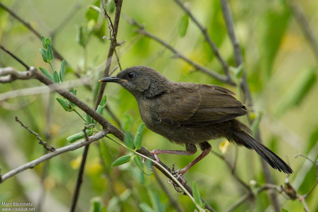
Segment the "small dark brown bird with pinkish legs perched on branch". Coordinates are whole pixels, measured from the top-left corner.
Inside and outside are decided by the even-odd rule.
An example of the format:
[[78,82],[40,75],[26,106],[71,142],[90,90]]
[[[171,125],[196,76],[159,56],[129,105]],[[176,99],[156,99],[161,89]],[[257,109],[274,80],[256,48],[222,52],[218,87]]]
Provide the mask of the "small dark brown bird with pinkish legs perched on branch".
[[181,174],[209,154],[211,145],[207,141],[217,138],[253,149],[274,169],[293,173],[280,157],[251,137],[250,128],[236,119],[246,115],[247,110],[226,88],[170,81],[147,66],[132,66],[100,81],[116,82],[126,88],[135,96],[142,121],[149,130],[185,145],[185,151],[152,150],[157,161],[158,154],[193,155],[197,145],[201,148],[202,153]]

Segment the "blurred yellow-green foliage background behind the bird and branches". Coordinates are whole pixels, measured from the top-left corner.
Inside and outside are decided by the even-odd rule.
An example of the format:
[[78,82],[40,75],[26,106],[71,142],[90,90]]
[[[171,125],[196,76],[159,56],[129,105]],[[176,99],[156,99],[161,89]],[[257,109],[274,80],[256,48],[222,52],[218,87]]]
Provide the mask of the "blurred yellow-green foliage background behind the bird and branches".
[[[40,0],[2,0],[25,21],[29,22],[41,35],[52,37],[54,46],[70,64],[65,80],[75,80],[72,72],[92,76],[92,87],[96,87],[99,73],[104,70],[110,41],[101,41],[100,37],[109,37],[107,25],[100,37],[92,36],[87,51],[87,72],[84,71],[84,48],[76,40],[78,28],[87,25],[90,19],[87,7],[94,1],[40,1]],[[222,57],[235,67],[231,41],[227,35],[223,14],[218,0],[189,1],[190,10],[195,17],[207,27],[212,40],[219,47]],[[316,159],[318,155],[318,83],[317,59],[310,44],[290,8],[284,1],[230,1],[229,6],[235,24],[235,32],[244,55],[244,67],[248,76],[253,97],[253,108],[250,111],[263,112],[260,122],[261,137],[281,158],[288,161],[294,170],[290,181],[298,176],[299,194],[305,194],[315,183],[315,169],[302,168],[305,159],[294,158],[297,153]],[[315,39],[318,39],[318,2],[301,1],[303,12],[312,26]],[[111,3],[108,4],[111,7]],[[111,9],[111,8],[109,8]],[[90,11],[94,12],[94,11]],[[180,36],[178,28],[184,11],[171,0],[162,1],[127,1],[121,9],[121,19],[117,40],[126,42],[117,47],[123,68],[133,65],[146,65],[155,68],[173,81],[218,84],[237,92],[236,87],[222,84],[204,73],[195,71],[180,59],[174,59],[173,53],[156,41],[143,37],[133,31],[134,27],[124,19],[124,15],[134,18],[145,25],[146,29],[159,36],[177,50],[204,66],[223,73],[222,67],[215,58],[194,23],[189,20],[185,36]],[[114,11],[109,11],[114,18]],[[88,19],[87,19],[88,17]],[[65,25],[61,26],[61,23]],[[52,32],[53,36],[52,36]],[[29,66],[45,67],[38,49],[42,42],[24,25],[11,17],[0,7],[0,43],[15,53]],[[53,66],[58,69],[61,61],[53,59]],[[117,65],[113,57],[110,70]],[[3,51],[0,51],[0,67],[14,67],[19,71],[25,68]],[[118,73],[119,69],[114,74]],[[37,80],[14,81],[0,84],[1,93],[15,89],[41,86]],[[90,106],[94,106],[93,93],[83,86],[76,87],[77,96]],[[119,120],[132,117],[131,132],[134,135],[142,123],[135,98],[116,84],[108,84],[105,89],[107,105]],[[35,136],[27,132],[17,122],[17,116],[25,125],[48,141],[56,148],[68,145],[66,138],[83,129],[83,121],[63,110],[54,98],[58,94],[28,95],[0,102],[0,166],[1,173],[36,159],[45,151]],[[50,107],[48,107],[50,104]],[[50,109],[48,112],[48,108]],[[82,115],[85,115],[80,111]],[[47,115],[49,114],[49,115]],[[103,116],[110,122],[114,119],[105,110]],[[246,117],[240,118],[247,123]],[[216,152],[220,152],[219,143],[211,141]],[[163,137],[145,129],[143,146],[147,149],[183,150],[181,146],[171,144]],[[104,163],[100,162],[100,151]],[[33,169],[26,170],[0,184],[1,201],[32,201],[36,211],[68,211],[76,184],[78,168],[83,148],[67,152],[46,161]],[[235,146],[225,153],[231,161],[234,159]],[[256,180],[264,184],[264,175],[259,156],[246,148],[238,150],[237,173],[246,182]],[[154,175],[144,176],[145,181],[138,181],[138,168],[133,162],[111,168],[113,161],[126,154],[125,149],[114,142],[103,138],[91,145],[86,162],[84,182],[81,187],[77,211],[89,211],[91,199],[100,198],[107,211],[140,211],[138,204],[145,202],[156,208],[160,201],[165,211],[175,211],[169,198],[158,184]],[[176,162],[176,168],[186,166],[200,152],[193,156],[160,155],[161,160],[170,165]],[[306,165],[306,164],[305,164]],[[300,170],[301,169],[301,170]],[[271,169],[275,184],[284,183],[286,175]],[[107,174],[105,174],[105,172]],[[172,196],[184,211],[193,211],[195,205],[187,196],[175,192],[166,184],[166,178],[158,173]],[[112,179],[112,183],[109,181]],[[202,197],[217,211],[228,208],[245,189],[236,182],[230,170],[217,156],[209,154],[200,163],[185,174],[191,185],[197,181]],[[140,180],[140,179],[139,179]],[[114,190],[112,190],[114,189]],[[115,194],[117,195],[115,195]],[[318,211],[318,189],[308,197],[311,211]],[[40,203],[39,203],[40,202]],[[40,204],[40,205],[39,205]],[[42,204],[42,206],[41,206]],[[265,211],[269,206],[266,192],[257,195],[254,204],[246,201],[235,211]],[[52,209],[54,208],[55,209]],[[42,208],[42,209],[41,209]],[[59,208],[59,209],[57,209]],[[287,200],[282,208],[289,211],[302,211],[299,201]],[[160,211],[159,209],[155,209]],[[272,211],[269,209],[268,211]]]

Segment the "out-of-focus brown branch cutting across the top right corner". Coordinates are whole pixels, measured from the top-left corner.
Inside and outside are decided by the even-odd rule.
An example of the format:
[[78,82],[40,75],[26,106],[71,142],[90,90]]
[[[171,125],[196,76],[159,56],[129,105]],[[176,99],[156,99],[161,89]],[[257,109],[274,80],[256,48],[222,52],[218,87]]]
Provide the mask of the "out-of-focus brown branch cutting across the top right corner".
[[305,37],[307,38],[309,46],[312,48],[316,57],[316,61],[318,63],[318,42],[315,39],[314,32],[311,29],[307,18],[303,14],[300,5],[296,1],[287,0],[286,2],[289,5],[291,11],[293,12],[294,17],[298,21],[298,24],[300,25]]

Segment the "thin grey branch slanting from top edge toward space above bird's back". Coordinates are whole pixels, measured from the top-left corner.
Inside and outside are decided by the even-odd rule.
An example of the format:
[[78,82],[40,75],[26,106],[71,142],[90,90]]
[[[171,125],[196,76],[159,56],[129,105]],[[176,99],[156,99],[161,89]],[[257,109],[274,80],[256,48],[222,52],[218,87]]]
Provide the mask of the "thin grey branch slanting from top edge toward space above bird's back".
[[193,22],[199,27],[199,29],[201,30],[202,34],[204,35],[206,41],[208,41],[212,51],[214,52],[215,56],[218,58],[218,60],[220,61],[223,69],[224,69],[224,73],[228,76],[228,78],[230,78],[230,74],[229,74],[229,66],[226,63],[225,60],[223,60],[223,58],[221,57],[219,51],[218,51],[218,47],[215,45],[215,43],[212,41],[206,27],[204,27],[203,25],[201,25],[199,23],[199,21],[193,16],[193,14],[191,13],[190,9],[187,8],[180,0],[174,0],[181,8],[183,11],[185,11],[188,16],[193,20]]

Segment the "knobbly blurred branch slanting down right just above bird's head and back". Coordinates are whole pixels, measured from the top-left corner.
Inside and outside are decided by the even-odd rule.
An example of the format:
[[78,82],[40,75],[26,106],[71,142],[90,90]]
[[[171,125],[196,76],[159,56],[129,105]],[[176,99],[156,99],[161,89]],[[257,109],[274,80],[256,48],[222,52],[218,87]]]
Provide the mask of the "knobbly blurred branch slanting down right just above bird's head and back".
[[184,56],[181,52],[178,52],[174,47],[172,47],[170,44],[168,44],[167,42],[163,41],[162,39],[160,39],[159,37],[157,37],[154,34],[151,34],[150,32],[146,31],[144,29],[144,27],[142,25],[140,25],[137,21],[135,21],[134,19],[126,19],[128,21],[129,24],[137,26],[138,29],[136,30],[136,32],[138,32],[139,34],[145,35],[151,39],[156,40],[158,43],[160,43],[161,45],[165,46],[167,49],[169,49],[171,52],[173,52],[175,54],[176,57],[181,58],[182,60],[186,61],[187,63],[189,63],[191,66],[193,66],[194,68],[196,68],[197,70],[200,70],[208,75],[210,75],[211,77],[217,79],[218,81],[221,82],[225,82],[225,83],[229,83],[231,85],[235,85],[234,82],[229,79],[227,76],[219,74],[213,70],[211,70],[208,67],[204,67],[201,64],[187,58],[186,56]]

